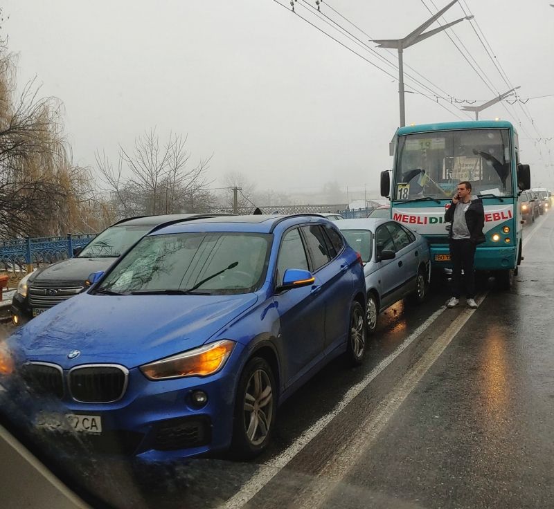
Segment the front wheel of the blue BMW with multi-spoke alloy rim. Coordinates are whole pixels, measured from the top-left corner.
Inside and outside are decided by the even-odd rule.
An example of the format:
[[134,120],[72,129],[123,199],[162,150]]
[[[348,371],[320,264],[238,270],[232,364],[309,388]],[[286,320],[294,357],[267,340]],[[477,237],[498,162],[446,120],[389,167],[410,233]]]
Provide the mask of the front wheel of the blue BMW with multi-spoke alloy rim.
[[237,456],[251,458],[267,447],[276,414],[273,371],[262,358],[251,359],[238,384],[231,448]]

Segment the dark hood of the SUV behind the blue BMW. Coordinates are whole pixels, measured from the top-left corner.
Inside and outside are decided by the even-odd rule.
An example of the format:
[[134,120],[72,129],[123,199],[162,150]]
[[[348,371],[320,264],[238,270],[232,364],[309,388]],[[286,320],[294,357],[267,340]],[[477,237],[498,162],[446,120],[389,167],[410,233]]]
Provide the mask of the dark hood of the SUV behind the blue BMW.
[[33,275],[31,284],[83,284],[92,272],[106,270],[117,258],[70,258],[53,263]]

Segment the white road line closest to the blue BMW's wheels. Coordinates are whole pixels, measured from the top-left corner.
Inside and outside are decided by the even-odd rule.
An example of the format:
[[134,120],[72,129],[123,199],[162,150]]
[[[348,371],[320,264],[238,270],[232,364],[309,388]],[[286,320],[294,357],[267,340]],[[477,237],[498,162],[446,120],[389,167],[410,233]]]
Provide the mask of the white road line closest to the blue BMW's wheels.
[[[483,297],[484,298],[484,297]],[[282,470],[294,456],[296,456],[303,448],[310,443],[321,431],[334,419],[335,416],[341,413],[343,409],[352,401],[358,394],[361,393],[372,382],[379,373],[381,373],[386,367],[388,367],[395,358],[400,355],[412,342],[423,333],[433,322],[445,312],[446,308],[442,307],[435,311],[425,322],[423,322],[418,328],[413,331],[398,348],[383,359],[375,368],[373,368],[363,380],[356,385],[352,385],[346,394],[341,398],[341,401],[337,406],[317,420],[310,428],[306,429],[301,436],[298,436],[296,440],[287,447],[286,450],[275,456],[275,458],[267,461],[267,463],[260,465],[260,470],[254,474],[247,483],[245,483],[240,491],[235,493],[222,508],[235,509],[244,506],[258,491],[260,491],[271,479],[276,476]]]

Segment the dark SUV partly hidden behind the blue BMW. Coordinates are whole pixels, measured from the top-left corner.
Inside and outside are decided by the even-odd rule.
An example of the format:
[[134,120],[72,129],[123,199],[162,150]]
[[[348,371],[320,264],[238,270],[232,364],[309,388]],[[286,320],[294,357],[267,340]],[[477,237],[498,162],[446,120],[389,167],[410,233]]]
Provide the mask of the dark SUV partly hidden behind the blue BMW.
[[60,304],[86,288],[92,272],[106,270],[145,234],[163,226],[221,214],[168,214],[123,219],[98,234],[75,257],[40,268],[21,279],[10,311],[12,322],[21,324]]

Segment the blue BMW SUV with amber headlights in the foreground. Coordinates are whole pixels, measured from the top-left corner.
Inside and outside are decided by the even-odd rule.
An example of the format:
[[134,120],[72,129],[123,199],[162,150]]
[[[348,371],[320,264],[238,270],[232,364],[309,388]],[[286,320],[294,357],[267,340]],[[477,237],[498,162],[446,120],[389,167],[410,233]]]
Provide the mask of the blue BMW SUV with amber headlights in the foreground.
[[364,357],[361,259],[321,216],[173,224],[91,280],[0,352],[0,382],[24,380],[33,425],[60,440],[109,437],[145,461],[253,457],[307,378]]

